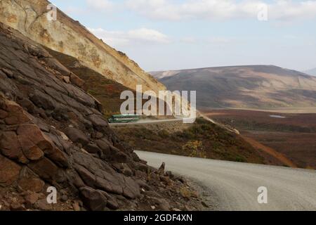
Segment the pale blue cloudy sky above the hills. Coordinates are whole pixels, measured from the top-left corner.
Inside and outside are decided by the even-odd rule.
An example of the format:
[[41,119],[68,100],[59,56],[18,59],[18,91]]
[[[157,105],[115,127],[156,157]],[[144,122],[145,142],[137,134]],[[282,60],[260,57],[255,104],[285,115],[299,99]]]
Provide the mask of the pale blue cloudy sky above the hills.
[[316,1],[52,0],[147,71],[316,68]]

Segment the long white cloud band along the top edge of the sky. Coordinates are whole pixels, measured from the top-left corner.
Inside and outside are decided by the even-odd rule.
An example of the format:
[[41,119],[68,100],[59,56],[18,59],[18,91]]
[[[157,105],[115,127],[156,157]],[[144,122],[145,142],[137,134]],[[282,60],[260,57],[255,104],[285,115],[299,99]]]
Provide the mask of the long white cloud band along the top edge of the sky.
[[[148,18],[183,19],[238,19],[257,18],[258,8],[265,1],[185,0],[176,4],[167,0],[126,0],[125,5]],[[293,20],[316,17],[316,1],[276,0],[268,6],[269,19]]]

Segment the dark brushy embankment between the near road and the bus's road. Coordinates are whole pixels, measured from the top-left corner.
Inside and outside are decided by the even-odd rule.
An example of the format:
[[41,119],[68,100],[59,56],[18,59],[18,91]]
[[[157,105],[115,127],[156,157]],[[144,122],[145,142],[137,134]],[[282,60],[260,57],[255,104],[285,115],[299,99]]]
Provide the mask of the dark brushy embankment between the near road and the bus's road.
[[272,164],[268,155],[253,148],[237,134],[202,118],[197,118],[194,124],[132,124],[113,129],[121,139],[137,150]]

